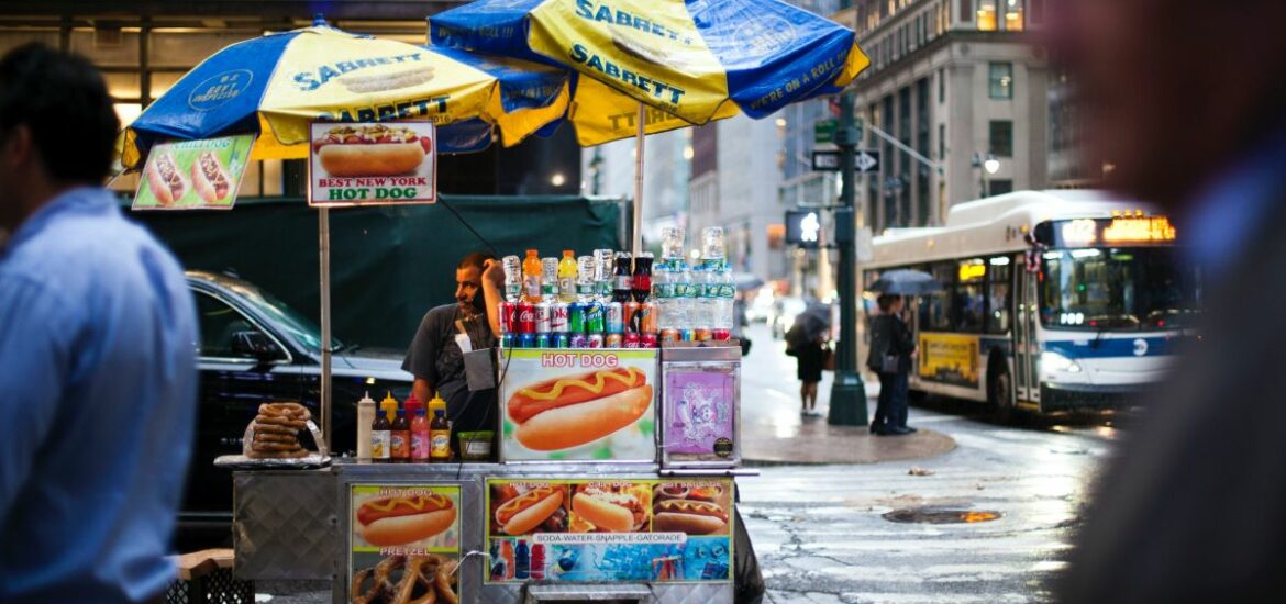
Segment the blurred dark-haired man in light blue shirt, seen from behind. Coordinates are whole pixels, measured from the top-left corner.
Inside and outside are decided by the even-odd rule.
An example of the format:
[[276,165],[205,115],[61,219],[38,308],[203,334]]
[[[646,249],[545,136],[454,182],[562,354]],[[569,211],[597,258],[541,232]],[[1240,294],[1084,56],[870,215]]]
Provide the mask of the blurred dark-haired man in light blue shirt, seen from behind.
[[85,59],[0,59],[0,601],[145,601],[195,422],[175,258],[102,188],[118,121]]

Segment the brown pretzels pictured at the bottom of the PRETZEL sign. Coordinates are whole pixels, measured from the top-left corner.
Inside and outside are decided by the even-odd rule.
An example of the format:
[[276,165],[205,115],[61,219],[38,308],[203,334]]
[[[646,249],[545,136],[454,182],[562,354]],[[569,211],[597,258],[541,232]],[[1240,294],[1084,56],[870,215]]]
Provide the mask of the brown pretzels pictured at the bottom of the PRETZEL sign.
[[[428,555],[394,555],[352,576],[354,604],[458,604],[455,560]],[[400,577],[395,577],[400,574]]]

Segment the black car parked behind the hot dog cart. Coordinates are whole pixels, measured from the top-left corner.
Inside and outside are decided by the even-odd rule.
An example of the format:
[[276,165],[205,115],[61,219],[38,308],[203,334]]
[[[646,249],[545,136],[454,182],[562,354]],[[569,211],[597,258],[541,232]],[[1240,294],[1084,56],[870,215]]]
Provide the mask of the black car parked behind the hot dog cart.
[[[320,418],[322,337],[311,319],[249,283],[202,271],[186,278],[201,323],[201,409],[179,535],[185,545],[217,544],[230,537],[233,483],[230,472],[213,466],[215,457],[240,452],[246,425],[262,402],[298,401]],[[337,339],[331,351],[332,455],[351,454],[361,396],[369,392],[378,402],[391,391],[405,400],[412,375],[401,370],[401,351],[367,351]],[[310,437],[302,442],[315,449]]]

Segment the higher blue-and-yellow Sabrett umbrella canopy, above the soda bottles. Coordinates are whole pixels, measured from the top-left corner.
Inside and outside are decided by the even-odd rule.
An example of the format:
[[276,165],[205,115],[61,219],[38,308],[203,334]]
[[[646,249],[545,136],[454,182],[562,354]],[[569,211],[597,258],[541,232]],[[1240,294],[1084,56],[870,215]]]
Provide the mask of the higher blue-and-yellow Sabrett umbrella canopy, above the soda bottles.
[[633,135],[637,103],[658,109],[649,134],[763,118],[869,64],[851,30],[778,0],[477,0],[430,18],[430,35],[576,69],[571,120],[585,145]]

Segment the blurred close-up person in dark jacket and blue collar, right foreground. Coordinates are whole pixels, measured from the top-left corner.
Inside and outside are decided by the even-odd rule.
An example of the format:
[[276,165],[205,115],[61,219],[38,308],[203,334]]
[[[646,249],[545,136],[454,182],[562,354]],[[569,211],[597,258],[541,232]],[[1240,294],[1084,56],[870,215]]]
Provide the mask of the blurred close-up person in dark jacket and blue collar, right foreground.
[[[1092,158],[1155,202],[1204,311],[1097,484],[1056,600],[1276,601],[1286,592],[1286,3],[1049,3]],[[1199,41],[1200,50],[1193,48]]]

